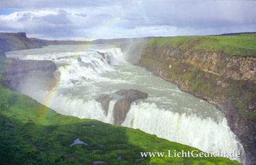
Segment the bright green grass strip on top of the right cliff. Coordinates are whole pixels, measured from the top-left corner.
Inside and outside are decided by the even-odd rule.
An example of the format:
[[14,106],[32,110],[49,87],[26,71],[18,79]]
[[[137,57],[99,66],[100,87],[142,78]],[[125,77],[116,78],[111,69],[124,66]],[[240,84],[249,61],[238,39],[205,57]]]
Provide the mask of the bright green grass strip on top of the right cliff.
[[256,34],[154,37],[150,39],[148,44],[155,42],[159,47],[170,44],[172,48],[180,48],[181,50],[191,48],[206,52],[224,52],[230,55],[256,57]]

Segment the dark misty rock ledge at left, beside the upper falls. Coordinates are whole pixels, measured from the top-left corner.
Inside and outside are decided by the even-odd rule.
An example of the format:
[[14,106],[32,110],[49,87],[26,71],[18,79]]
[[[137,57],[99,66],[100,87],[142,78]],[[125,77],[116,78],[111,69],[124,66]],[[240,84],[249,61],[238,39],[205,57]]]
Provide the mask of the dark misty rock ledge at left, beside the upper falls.
[[4,79],[0,83],[17,91],[21,83],[31,80],[31,83],[42,84],[43,90],[49,90],[57,81],[55,71],[56,66],[52,61],[10,59],[10,64],[3,72]]

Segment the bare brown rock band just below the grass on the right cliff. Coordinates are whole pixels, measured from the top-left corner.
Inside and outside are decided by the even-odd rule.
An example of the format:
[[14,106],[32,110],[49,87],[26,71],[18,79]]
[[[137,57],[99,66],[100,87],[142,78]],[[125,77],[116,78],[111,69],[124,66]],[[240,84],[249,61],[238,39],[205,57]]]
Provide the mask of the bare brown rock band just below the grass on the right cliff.
[[224,55],[220,52],[183,53],[183,63],[202,68],[204,72],[226,75],[234,80],[250,80],[256,83],[256,58]]

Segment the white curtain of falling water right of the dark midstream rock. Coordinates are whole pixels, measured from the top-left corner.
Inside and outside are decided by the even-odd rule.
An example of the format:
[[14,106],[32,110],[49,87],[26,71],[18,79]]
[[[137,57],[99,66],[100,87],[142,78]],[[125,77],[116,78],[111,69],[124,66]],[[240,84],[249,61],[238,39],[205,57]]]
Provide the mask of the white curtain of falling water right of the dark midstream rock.
[[241,151],[242,144],[236,140],[235,134],[227,126],[223,118],[218,123],[211,118],[201,119],[196,115],[174,113],[158,108],[156,104],[141,102],[132,104],[122,126],[139,128],[147,133],[169,141],[180,142],[196,147],[202,151]]

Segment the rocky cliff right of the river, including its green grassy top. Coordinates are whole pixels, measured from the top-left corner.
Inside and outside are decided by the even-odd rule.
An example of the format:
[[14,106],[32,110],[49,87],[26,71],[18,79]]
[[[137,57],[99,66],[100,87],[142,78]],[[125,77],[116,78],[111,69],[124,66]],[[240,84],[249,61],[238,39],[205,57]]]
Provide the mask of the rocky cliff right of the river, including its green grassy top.
[[[256,37],[250,37],[255,42]],[[230,51],[226,43],[218,44],[224,40],[239,41],[236,39],[234,36],[153,38],[147,42],[139,65],[178,84],[181,90],[215,104],[226,114],[229,127],[253,161],[256,155],[255,49],[230,44]]]

